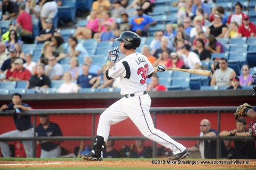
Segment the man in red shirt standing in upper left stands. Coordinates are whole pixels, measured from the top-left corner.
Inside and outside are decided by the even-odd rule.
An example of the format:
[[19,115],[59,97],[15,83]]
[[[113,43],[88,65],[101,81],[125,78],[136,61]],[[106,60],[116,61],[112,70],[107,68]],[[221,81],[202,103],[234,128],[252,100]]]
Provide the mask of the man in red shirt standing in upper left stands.
[[21,36],[29,36],[33,34],[33,24],[29,13],[25,11],[26,6],[19,6],[20,15],[17,18],[17,27],[21,27]]

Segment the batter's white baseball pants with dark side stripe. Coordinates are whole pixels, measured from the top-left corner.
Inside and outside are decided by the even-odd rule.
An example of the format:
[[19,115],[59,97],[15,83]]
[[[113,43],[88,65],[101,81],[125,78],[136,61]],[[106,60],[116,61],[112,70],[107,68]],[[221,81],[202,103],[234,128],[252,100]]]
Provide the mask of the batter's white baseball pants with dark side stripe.
[[130,118],[140,132],[148,139],[162,144],[166,148],[170,148],[173,154],[183,152],[186,148],[182,144],[175,142],[169,135],[154,127],[149,112],[150,105],[151,99],[148,94],[122,98],[116,101],[101,114],[97,135],[104,137],[104,141],[107,142],[110,125]]

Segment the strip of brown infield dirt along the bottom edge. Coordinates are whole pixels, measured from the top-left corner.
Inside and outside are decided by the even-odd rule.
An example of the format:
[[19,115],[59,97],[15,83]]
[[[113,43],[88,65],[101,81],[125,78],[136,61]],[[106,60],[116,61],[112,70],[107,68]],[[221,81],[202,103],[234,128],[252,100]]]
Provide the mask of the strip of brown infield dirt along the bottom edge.
[[[153,164],[152,161],[155,161]],[[138,168],[187,168],[187,169],[216,169],[216,168],[255,168],[256,160],[213,159],[209,164],[202,163],[202,159],[185,159],[182,162],[167,160],[66,160],[66,161],[0,161],[0,168],[27,168],[27,167],[138,167]],[[214,162],[215,161],[215,162]],[[226,161],[226,162],[225,162]],[[241,161],[242,164],[238,164]],[[243,162],[244,161],[244,162]],[[215,163],[215,164],[214,164]],[[226,164],[223,164],[226,163]]]

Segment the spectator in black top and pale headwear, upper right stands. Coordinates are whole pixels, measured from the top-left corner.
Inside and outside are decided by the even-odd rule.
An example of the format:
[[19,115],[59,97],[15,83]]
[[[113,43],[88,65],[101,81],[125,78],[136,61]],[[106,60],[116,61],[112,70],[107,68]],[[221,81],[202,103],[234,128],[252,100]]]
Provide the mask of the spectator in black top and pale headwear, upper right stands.
[[214,35],[216,38],[223,38],[228,30],[227,25],[222,23],[222,15],[214,14],[214,23],[207,29],[207,35]]

